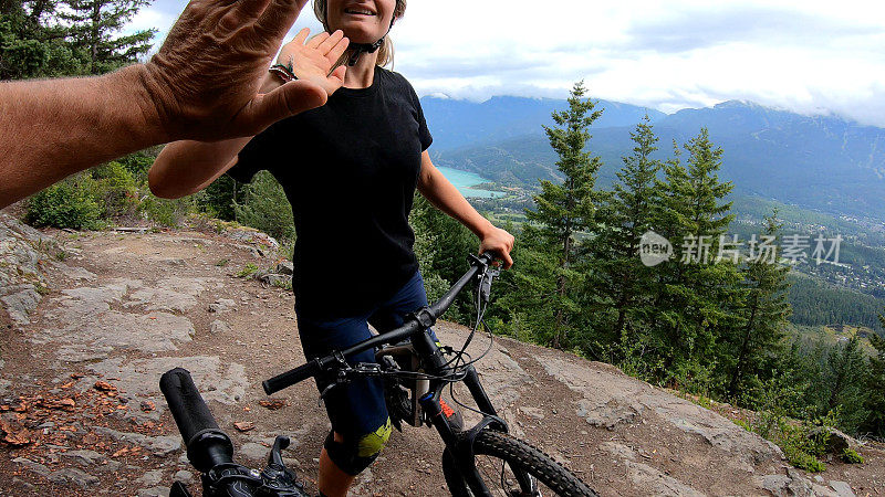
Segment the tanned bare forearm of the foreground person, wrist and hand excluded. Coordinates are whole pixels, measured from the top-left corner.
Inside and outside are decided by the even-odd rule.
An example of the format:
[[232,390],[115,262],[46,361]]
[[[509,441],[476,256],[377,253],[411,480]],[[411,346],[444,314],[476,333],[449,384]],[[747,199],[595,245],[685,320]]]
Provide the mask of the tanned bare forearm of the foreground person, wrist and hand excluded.
[[[100,77],[0,84],[0,208],[164,134],[144,66]],[[153,115],[150,113],[153,112]]]

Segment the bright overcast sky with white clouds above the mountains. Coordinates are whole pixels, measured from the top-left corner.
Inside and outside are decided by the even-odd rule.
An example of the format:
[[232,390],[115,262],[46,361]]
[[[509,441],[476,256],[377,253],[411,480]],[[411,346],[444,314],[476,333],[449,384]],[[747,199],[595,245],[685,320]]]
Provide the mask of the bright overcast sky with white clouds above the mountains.
[[[155,0],[132,28],[159,41],[185,4]],[[295,25],[321,29],[310,4]],[[392,35],[421,96],[561,98],[583,78],[667,113],[747,99],[885,127],[881,0],[410,0]]]

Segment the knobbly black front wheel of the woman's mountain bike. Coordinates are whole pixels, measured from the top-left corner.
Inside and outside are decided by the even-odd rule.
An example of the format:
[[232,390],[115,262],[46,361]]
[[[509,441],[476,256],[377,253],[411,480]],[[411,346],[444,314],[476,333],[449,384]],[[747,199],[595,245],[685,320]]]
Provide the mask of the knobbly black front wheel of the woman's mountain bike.
[[[473,453],[477,472],[492,496],[596,496],[561,464],[507,433],[482,430],[473,441]],[[454,497],[473,496],[448,451],[442,456],[442,473]]]

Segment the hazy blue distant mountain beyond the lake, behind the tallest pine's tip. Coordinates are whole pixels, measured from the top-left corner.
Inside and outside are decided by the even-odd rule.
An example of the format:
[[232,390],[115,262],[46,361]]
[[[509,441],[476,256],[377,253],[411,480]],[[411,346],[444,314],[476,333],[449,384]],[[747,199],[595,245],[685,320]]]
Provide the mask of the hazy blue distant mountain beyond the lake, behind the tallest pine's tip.
[[[601,101],[606,108],[596,127],[629,126],[647,113],[652,120],[666,117],[653,108]],[[553,110],[568,103],[553,98],[497,96],[477,103],[426,96],[421,98],[425,118],[434,135],[434,150],[451,150],[490,140],[502,140],[541,133],[542,125],[552,125]]]

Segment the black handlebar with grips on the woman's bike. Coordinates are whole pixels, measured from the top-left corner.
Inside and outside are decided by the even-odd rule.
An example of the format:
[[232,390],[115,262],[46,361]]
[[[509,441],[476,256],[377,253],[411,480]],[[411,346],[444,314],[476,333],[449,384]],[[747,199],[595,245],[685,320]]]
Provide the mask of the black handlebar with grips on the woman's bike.
[[[489,264],[494,260],[494,256],[490,253],[485,253],[481,255],[470,255],[470,269],[461,276],[455,285],[446,292],[442,297],[439,298],[434,305],[426,307],[427,314],[430,315],[430,320],[436,321],[436,319],[441,316],[451,304],[455,302],[455,297],[458,296],[459,293],[470,283],[470,279],[479,273],[480,268],[487,268]],[[384,335],[378,335],[367,340],[364,340],[360,343],[356,343],[353,347],[350,347],[345,350],[340,352],[342,357],[350,357],[355,353],[360,353],[364,350],[368,350],[371,348],[375,348],[385,343],[395,343],[405,338],[409,335],[415,332],[417,329],[425,327],[425,322],[419,320],[417,316],[413,316],[412,319],[407,320],[405,325],[396,328],[394,330],[387,331]],[[430,322],[433,325],[433,322]],[[429,326],[429,325],[427,325]],[[312,361],[299,366],[295,369],[289,370],[284,373],[278,374],[270,380],[264,380],[261,385],[264,388],[264,393],[270,395],[271,393],[279,392],[285,388],[289,388],[298,382],[304,381],[308,378],[315,377],[319,374],[325,366],[331,362],[335,362],[335,356],[326,356],[317,359],[313,359]]]

